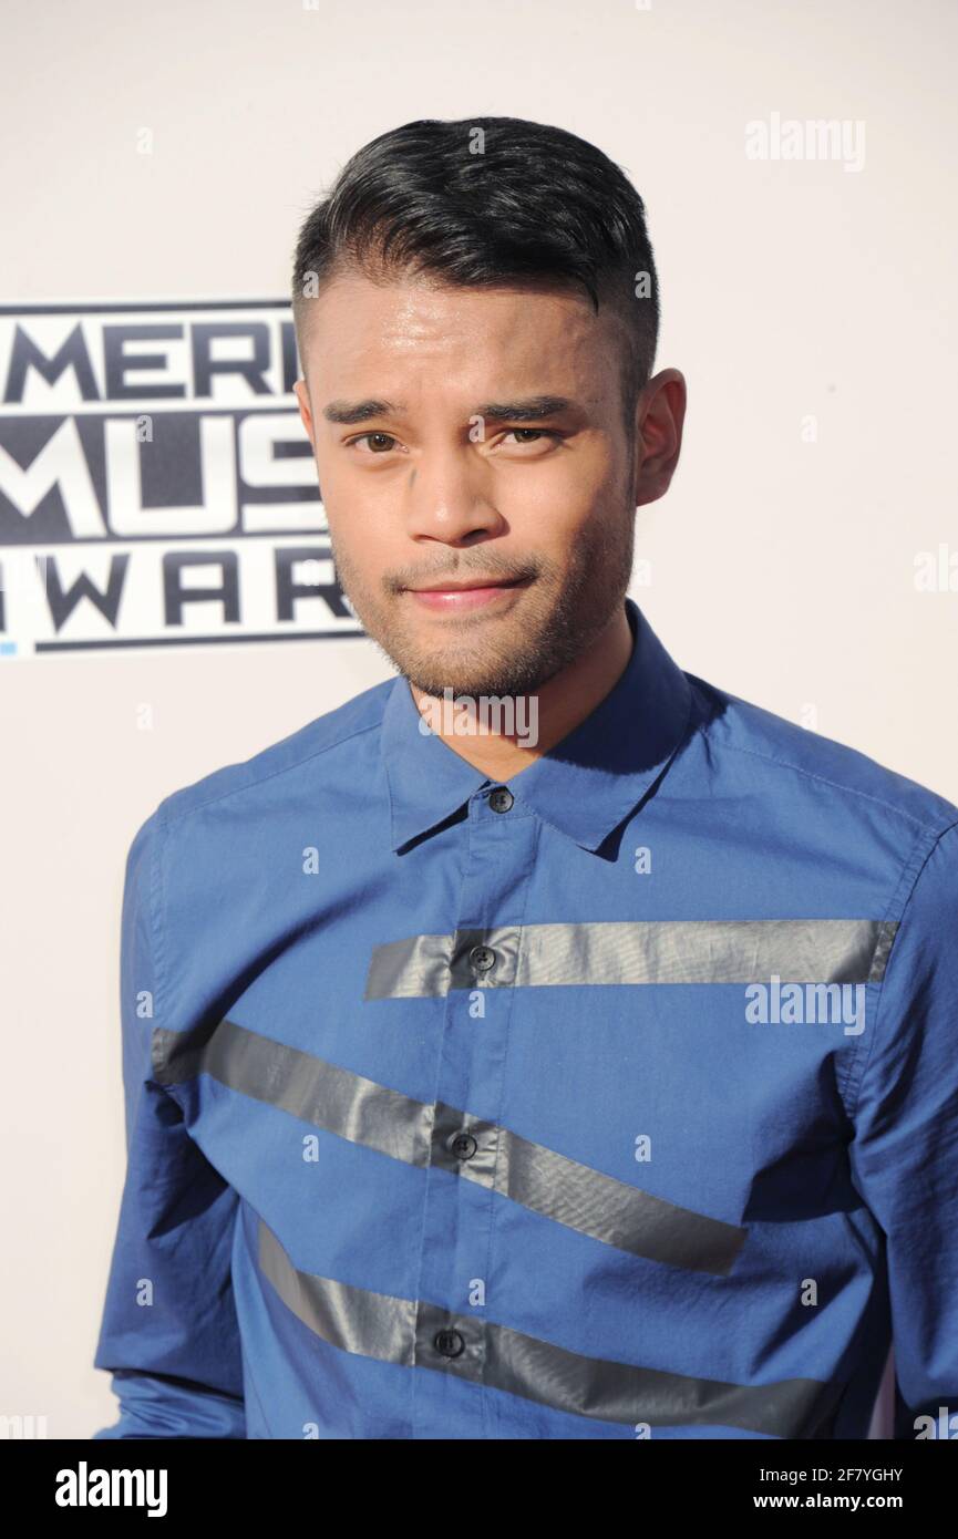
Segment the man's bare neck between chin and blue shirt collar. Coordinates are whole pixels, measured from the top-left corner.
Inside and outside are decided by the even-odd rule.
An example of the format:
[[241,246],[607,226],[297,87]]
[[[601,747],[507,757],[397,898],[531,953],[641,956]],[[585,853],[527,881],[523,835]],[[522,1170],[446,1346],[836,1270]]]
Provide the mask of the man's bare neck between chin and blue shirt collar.
[[[547,754],[554,743],[567,737],[579,722],[591,716],[625,673],[631,648],[631,626],[625,605],[622,605],[591,646],[536,691],[538,733],[534,734],[536,742],[531,745],[522,742],[522,731],[465,733],[462,736],[450,733],[445,729],[442,709],[433,709],[428,720],[436,736],[453,753],[474,765],[490,780],[511,780],[542,754]],[[410,689],[419,711],[436,705],[434,696],[425,694],[413,683],[410,683]]]

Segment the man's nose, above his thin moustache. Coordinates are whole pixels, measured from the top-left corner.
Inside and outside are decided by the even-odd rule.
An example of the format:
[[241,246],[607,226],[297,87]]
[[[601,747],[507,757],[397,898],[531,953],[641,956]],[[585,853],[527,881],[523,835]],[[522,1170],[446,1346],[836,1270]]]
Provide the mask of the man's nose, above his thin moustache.
[[471,445],[433,448],[410,468],[407,529],[414,540],[462,545],[497,534],[505,520],[496,508],[491,469]]

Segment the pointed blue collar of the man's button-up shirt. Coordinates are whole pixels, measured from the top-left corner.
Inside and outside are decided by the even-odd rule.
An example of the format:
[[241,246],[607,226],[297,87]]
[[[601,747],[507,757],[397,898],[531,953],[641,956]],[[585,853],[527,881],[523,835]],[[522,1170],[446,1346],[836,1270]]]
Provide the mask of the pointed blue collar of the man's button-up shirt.
[[380,731],[393,850],[493,783],[507,785],[518,802],[584,850],[599,848],[667,766],[692,714],[688,679],[630,597],[625,611],[633,646],[621,679],[585,720],[511,780],[491,782],[442,737],[422,733],[408,680],[399,674]]

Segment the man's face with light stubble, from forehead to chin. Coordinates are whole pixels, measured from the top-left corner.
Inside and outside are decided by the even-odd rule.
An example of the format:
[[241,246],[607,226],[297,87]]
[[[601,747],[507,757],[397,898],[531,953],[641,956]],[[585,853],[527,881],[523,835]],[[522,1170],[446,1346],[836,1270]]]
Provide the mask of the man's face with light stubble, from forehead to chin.
[[[296,391],[363,628],[427,694],[534,693],[631,576],[621,322],[585,294],[356,272],[308,308]],[[482,580],[510,586],[416,591]]]

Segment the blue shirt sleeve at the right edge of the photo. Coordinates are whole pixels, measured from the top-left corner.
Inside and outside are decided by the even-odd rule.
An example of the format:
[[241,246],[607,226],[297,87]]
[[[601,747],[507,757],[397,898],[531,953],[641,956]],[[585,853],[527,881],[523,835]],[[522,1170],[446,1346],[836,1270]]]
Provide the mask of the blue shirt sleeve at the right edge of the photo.
[[912,883],[853,1123],[852,1177],[887,1239],[893,1437],[915,1439],[916,1417],[958,1411],[958,823]]

